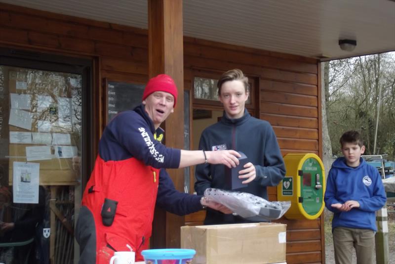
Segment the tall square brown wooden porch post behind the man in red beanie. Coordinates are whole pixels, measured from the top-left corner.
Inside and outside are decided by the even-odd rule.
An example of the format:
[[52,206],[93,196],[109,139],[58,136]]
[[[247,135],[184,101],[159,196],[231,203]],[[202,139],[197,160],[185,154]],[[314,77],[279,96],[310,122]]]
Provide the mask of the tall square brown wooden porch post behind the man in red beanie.
[[[149,77],[165,73],[178,88],[177,105],[162,128],[165,144],[184,146],[184,63],[182,0],[148,0]],[[184,190],[183,170],[168,170],[175,187]],[[184,217],[156,210],[152,248],[180,247],[180,227]]]

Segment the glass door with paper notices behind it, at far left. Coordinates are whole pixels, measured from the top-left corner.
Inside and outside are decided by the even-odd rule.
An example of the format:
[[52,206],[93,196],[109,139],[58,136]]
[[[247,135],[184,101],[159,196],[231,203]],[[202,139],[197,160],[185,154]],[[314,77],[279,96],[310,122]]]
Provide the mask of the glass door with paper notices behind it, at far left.
[[61,68],[0,60],[0,263],[70,264],[79,256],[87,76]]

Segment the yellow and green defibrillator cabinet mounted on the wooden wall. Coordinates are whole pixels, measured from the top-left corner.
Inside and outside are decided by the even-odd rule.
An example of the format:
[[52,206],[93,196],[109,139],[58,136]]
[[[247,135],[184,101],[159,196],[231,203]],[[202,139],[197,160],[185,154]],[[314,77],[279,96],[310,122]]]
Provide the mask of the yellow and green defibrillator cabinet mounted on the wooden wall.
[[289,153],[284,157],[285,177],[277,185],[277,200],[291,201],[287,219],[316,219],[323,209],[325,170],[314,153]]

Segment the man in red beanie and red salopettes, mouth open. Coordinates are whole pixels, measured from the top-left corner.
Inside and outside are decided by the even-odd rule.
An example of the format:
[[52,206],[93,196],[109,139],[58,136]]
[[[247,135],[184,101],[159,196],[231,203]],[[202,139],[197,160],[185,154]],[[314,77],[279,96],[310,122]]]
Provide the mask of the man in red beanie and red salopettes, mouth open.
[[148,82],[142,104],[119,113],[104,130],[76,225],[80,264],[108,264],[114,252],[130,249],[142,261],[156,205],[178,215],[205,206],[232,213],[204,196],[178,192],[164,170],[200,163],[236,167],[240,156],[234,150],[189,151],[161,144],[159,126],[173,112],[177,94],[172,78],[160,74]]

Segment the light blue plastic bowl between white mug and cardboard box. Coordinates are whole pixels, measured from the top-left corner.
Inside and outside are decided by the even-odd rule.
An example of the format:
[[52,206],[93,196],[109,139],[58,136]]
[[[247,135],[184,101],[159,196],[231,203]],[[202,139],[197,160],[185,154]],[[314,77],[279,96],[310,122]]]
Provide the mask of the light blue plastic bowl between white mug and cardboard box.
[[147,249],[141,252],[146,264],[189,264],[195,254],[194,249]]

